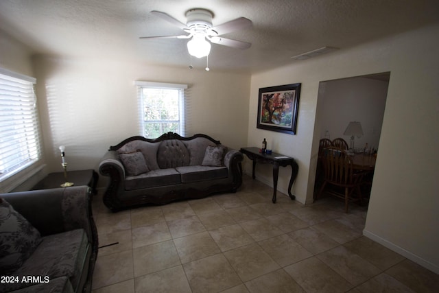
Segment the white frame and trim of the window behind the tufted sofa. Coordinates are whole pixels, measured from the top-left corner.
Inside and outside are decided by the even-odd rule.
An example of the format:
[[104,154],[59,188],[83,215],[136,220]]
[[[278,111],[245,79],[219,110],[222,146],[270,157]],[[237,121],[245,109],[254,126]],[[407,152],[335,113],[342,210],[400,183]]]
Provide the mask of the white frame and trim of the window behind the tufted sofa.
[[[139,133],[141,136],[145,137],[145,125],[147,122],[145,122],[145,104],[144,97],[143,97],[143,89],[171,89],[171,90],[178,90],[178,120],[154,120],[151,123],[172,123],[172,122],[178,122],[178,134],[180,136],[185,136],[185,90],[188,88],[187,84],[169,84],[164,82],[145,82],[137,80],[134,82],[134,84],[137,86],[137,99],[139,102]],[[151,137],[152,139],[155,139],[156,137]]]

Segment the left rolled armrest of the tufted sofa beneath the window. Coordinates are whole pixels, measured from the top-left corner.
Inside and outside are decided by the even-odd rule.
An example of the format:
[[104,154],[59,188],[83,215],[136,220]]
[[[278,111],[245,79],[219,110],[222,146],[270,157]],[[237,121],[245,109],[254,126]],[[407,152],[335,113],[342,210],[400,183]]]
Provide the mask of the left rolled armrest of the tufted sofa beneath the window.
[[110,180],[102,200],[108,209],[117,211],[121,207],[121,199],[125,191],[125,168],[119,160],[117,152],[109,150],[99,163],[99,173],[109,176]]

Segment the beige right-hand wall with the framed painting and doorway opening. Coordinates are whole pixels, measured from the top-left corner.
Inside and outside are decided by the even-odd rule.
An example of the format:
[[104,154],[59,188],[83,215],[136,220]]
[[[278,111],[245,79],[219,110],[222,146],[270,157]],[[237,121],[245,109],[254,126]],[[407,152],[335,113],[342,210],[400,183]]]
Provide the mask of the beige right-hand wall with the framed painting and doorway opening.
[[[299,174],[294,194],[312,202],[319,115],[319,82],[391,71],[377,167],[365,235],[439,273],[439,25],[295,62],[252,75],[248,144],[266,137],[276,152],[296,158]],[[297,135],[256,128],[258,89],[301,82]],[[315,121],[316,119],[316,121]],[[270,147],[269,147],[270,148]],[[250,165],[245,165],[246,172]],[[269,167],[257,178],[272,185]],[[285,192],[289,170],[280,174]]]

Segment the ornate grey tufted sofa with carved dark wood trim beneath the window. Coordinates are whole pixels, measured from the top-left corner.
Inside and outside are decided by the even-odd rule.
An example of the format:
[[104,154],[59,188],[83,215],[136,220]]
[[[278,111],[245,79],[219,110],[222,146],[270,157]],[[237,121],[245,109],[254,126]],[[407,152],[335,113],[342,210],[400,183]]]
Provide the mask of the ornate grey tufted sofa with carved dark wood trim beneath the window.
[[243,159],[241,152],[205,134],[130,137],[111,146],[99,164],[99,173],[110,177],[104,204],[119,211],[235,192],[242,183]]

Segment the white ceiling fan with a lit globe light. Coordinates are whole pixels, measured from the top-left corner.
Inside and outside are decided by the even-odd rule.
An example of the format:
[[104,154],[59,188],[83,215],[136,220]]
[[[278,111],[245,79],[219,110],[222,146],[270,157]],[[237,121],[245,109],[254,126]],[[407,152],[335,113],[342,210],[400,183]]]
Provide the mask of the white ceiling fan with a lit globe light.
[[[224,45],[227,47],[233,47],[237,49],[248,49],[252,44],[243,42],[241,40],[232,40],[230,38],[223,38],[222,34],[227,34],[228,32],[235,32],[237,30],[242,30],[246,27],[252,25],[250,19],[245,17],[239,17],[233,21],[228,21],[222,25],[217,25],[213,27],[212,17],[213,14],[209,10],[197,8],[191,9],[186,12],[187,23],[181,23],[174,17],[166,14],[165,12],[160,12],[153,10],[152,14],[161,17],[165,21],[176,25],[181,30],[184,30],[186,34],[180,36],[142,36],[140,38],[191,38],[187,43],[187,49],[191,56],[196,58],[202,58],[208,56],[211,51],[211,43]],[[211,42],[209,43],[208,40]]]

